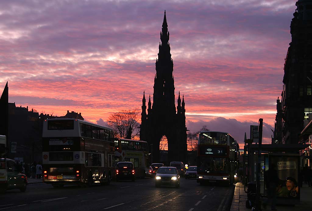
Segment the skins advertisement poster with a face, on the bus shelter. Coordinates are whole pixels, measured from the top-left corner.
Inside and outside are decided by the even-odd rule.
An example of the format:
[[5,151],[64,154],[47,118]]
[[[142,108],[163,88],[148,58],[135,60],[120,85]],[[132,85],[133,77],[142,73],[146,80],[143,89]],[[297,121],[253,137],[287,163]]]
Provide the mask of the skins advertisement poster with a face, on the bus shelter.
[[299,199],[299,156],[291,156],[287,154],[269,155],[269,162],[276,167],[279,177],[276,196],[281,198]]

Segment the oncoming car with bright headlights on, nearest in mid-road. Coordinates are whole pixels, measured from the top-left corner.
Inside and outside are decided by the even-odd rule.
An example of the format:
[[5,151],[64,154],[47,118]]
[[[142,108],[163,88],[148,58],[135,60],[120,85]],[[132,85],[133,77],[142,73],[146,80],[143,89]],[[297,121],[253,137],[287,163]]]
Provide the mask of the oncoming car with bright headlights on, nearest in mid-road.
[[174,185],[180,187],[180,174],[176,167],[160,167],[155,176],[155,187]]

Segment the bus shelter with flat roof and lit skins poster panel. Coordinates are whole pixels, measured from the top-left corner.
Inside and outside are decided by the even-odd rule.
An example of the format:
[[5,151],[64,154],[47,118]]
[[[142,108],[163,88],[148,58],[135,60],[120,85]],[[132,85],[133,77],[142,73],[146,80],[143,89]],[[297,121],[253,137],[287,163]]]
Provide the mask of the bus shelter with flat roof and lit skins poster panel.
[[[256,181],[256,165],[258,161],[258,144],[247,144],[245,151],[245,185]],[[299,204],[300,202],[300,154],[307,148],[306,144],[262,144],[260,193],[267,195],[264,183],[264,172],[274,164],[278,172],[279,184],[276,189],[277,204]]]

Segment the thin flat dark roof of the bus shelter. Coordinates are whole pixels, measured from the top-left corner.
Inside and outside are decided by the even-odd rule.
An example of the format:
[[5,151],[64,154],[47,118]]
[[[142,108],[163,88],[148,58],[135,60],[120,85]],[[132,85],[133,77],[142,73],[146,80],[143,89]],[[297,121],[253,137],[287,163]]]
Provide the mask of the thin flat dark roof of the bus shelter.
[[[310,145],[308,144],[262,144],[261,151],[269,151],[269,152],[297,152],[299,150],[303,150]],[[257,150],[258,144],[251,144],[251,150]],[[248,147],[246,147],[248,149]]]

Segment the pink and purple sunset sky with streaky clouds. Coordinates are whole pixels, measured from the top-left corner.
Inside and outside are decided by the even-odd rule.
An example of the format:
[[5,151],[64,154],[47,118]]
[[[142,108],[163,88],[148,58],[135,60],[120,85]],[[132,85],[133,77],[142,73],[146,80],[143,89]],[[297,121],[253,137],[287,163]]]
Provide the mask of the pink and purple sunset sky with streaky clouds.
[[[9,102],[105,124],[153,96],[166,10],[176,101],[186,126],[243,143],[263,118],[274,130],[295,0],[17,1],[0,3],[0,85]],[[241,145],[242,146],[242,145]]]

